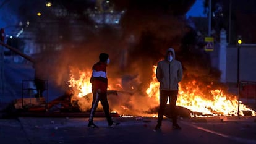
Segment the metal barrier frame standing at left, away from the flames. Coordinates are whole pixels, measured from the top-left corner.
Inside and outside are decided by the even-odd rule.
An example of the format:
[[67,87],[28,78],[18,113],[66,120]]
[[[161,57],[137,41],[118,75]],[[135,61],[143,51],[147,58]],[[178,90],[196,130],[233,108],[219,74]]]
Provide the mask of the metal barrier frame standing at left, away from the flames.
[[[48,103],[48,80],[43,80],[43,82],[45,83],[46,103]],[[24,97],[29,97],[29,103],[32,104],[32,98],[36,98],[34,95],[35,93],[37,93],[37,90],[34,80],[22,80],[22,108],[24,108]],[[40,98],[43,98],[43,96],[39,96],[38,98],[40,100]]]

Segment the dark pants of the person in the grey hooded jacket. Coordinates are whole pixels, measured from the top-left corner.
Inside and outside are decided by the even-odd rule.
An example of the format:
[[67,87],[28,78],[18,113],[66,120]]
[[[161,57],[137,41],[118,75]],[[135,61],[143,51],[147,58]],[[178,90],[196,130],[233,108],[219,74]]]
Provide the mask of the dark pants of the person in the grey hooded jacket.
[[178,91],[166,91],[160,90],[160,106],[158,110],[158,125],[162,124],[164,110],[166,108],[166,104],[169,98],[169,108],[168,110],[171,111],[171,117],[173,120],[173,125],[177,124],[177,112],[176,112],[176,101],[177,101],[177,94]]

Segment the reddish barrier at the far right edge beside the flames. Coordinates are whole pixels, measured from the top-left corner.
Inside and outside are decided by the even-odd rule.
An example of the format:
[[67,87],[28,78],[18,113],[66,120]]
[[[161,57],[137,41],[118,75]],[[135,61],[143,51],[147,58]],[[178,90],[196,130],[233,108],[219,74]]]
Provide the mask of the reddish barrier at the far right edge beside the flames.
[[256,82],[241,81],[239,82],[238,90],[238,112],[239,115],[239,105],[240,101],[244,104],[251,104],[256,106]]

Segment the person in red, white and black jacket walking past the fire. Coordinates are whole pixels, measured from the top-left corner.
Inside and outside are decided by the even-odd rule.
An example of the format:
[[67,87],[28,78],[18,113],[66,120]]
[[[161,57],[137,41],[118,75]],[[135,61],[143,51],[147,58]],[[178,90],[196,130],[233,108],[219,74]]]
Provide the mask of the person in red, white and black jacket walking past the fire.
[[109,112],[109,104],[108,104],[108,98],[107,98],[108,78],[106,75],[106,67],[108,66],[110,61],[108,57],[109,57],[108,54],[101,53],[99,56],[100,61],[96,62],[96,64],[94,64],[92,67],[92,77],[90,81],[92,83],[93,100],[92,100],[92,108],[90,109],[88,127],[93,127],[93,128],[98,127],[93,123],[93,117],[94,117],[96,108],[98,107],[99,101],[103,106],[103,111],[108,121],[108,126],[113,127],[119,124],[119,122],[114,122],[111,119],[111,115]]

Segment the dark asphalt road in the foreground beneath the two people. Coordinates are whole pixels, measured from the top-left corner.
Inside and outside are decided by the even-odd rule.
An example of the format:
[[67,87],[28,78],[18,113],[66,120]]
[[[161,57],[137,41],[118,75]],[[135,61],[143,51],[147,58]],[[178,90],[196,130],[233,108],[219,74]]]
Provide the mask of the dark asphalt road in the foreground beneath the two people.
[[153,131],[156,118],[114,117],[121,122],[109,128],[105,118],[95,118],[100,128],[87,127],[88,118],[19,117],[0,119],[1,144],[25,143],[256,143],[255,117],[212,117],[179,119],[181,130],[173,130],[164,119]]

